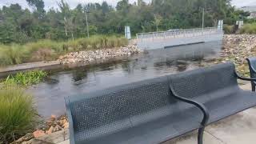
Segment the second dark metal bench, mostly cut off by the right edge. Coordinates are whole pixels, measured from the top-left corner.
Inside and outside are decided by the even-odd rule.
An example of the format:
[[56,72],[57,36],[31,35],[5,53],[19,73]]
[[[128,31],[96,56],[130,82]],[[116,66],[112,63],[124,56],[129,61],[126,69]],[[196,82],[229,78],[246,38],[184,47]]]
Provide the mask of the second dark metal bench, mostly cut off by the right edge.
[[[249,70],[250,70],[250,78],[256,78],[256,58],[246,58],[248,65],[249,65]],[[252,91],[255,91],[256,87],[256,82],[250,82],[251,83],[251,89]]]

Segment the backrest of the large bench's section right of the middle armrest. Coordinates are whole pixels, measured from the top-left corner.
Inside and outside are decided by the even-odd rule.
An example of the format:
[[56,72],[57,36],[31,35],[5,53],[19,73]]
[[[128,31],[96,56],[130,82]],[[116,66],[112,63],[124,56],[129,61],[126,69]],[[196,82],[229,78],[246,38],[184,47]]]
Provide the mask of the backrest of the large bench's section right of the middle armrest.
[[[231,62],[190,70],[170,75],[170,85],[174,92],[181,97],[205,102],[207,99],[210,100],[210,97],[238,90],[238,82],[234,70],[235,66]],[[219,94],[212,94],[217,92]],[[209,98],[201,98],[202,95],[207,95]]]

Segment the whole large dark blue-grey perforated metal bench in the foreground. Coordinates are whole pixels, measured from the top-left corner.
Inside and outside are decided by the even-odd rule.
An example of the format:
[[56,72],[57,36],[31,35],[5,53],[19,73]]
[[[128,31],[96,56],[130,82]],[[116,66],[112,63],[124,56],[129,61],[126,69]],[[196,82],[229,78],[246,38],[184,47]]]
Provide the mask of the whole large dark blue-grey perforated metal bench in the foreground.
[[233,63],[153,78],[66,98],[70,143],[166,142],[256,106]]

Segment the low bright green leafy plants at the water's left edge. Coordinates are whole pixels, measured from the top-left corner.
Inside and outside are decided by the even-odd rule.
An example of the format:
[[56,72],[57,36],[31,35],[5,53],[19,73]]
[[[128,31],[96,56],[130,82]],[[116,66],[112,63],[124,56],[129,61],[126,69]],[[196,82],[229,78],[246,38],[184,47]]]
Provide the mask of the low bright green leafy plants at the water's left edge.
[[4,86],[30,86],[38,84],[42,81],[42,78],[45,78],[47,73],[42,70],[34,70],[25,73],[18,73],[14,76],[9,75],[6,80],[3,82]]

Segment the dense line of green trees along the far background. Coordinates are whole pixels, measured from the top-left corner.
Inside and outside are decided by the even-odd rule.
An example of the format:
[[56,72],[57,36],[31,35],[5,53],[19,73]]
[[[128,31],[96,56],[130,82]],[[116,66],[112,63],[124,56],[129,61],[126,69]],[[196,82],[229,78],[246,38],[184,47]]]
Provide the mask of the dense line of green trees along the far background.
[[228,25],[244,19],[249,13],[235,10],[230,0],[138,0],[118,2],[116,7],[107,2],[78,4],[74,9],[64,1],[58,9],[45,9],[43,0],[26,0],[29,9],[18,4],[0,9],[0,42],[25,43],[38,39],[66,40],[84,38],[86,14],[90,34],[123,34],[126,25],[132,34],[156,30],[194,28],[202,26],[202,8],[205,26],[216,26],[218,19]]

